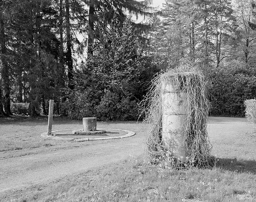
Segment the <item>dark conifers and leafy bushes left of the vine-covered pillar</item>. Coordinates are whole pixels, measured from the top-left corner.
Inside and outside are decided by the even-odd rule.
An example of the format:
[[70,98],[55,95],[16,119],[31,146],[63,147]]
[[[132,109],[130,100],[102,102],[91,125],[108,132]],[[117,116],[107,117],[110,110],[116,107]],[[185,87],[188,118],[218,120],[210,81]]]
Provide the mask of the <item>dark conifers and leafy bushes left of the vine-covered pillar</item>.
[[[129,15],[150,16],[147,5],[126,0],[0,1],[0,115],[47,114],[48,100],[54,99],[55,113],[72,118],[107,117],[105,107],[119,102],[134,116],[136,108],[131,108],[141,100],[144,82],[154,70],[143,54],[141,33],[148,26],[135,25]],[[125,113],[121,104],[116,108]],[[112,113],[110,119],[119,119]]]

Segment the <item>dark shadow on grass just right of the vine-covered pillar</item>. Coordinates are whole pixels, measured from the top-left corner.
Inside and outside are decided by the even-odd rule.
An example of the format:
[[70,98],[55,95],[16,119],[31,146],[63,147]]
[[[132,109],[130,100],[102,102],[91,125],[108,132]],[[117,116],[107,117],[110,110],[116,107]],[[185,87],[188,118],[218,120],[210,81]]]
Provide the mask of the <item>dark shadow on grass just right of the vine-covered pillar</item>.
[[250,172],[256,174],[256,161],[218,158],[216,159],[217,168],[234,171],[234,172]]

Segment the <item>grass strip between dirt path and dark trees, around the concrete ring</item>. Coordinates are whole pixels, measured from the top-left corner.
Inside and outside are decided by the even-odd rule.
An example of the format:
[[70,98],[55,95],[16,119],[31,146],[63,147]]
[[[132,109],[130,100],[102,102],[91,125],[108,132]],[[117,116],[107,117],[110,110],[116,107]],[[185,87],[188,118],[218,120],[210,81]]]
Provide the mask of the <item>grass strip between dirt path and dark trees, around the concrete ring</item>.
[[[97,144],[97,142],[44,139],[41,134],[47,131],[47,122],[48,119],[45,116],[37,119],[30,117],[0,118],[0,159]],[[145,131],[142,131],[145,124],[135,123],[97,122],[97,128],[127,129],[145,135]],[[82,121],[54,117],[52,130],[65,129],[82,129]]]

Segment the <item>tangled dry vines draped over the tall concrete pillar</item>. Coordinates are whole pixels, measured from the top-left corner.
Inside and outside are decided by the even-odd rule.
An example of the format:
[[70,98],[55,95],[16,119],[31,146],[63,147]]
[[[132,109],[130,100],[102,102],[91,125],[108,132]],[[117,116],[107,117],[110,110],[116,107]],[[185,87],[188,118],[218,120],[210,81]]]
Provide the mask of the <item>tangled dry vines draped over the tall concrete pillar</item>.
[[[162,141],[162,91],[163,86],[172,85],[174,92],[184,94],[187,119],[183,146],[187,151],[186,162],[181,165],[175,158],[176,139],[168,146]],[[157,75],[142,103],[145,121],[151,124],[147,137],[148,153],[154,163],[167,162],[169,166],[209,166],[211,144],[207,134],[208,99],[204,76],[196,70],[172,69]]]

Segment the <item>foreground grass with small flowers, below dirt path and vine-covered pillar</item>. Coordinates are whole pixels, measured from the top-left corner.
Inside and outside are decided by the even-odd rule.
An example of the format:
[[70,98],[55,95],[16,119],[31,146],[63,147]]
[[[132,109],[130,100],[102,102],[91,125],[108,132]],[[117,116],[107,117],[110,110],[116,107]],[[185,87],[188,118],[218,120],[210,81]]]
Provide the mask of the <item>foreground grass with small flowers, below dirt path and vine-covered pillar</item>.
[[[225,161],[225,159],[222,159]],[[219,161],[220,162],[220,161]],[[226,161],[225,161],[226,162]],[[227,160],[213,169],[173,170],[149,166],[143,158],[37,184],[1,196],[1,201],[225,201],[256,200],[255,166],[237,171]],[[246,167],[255,162],[246,162]],[[243,200],[242,200],[243,201]]]

